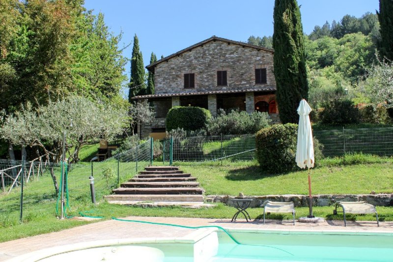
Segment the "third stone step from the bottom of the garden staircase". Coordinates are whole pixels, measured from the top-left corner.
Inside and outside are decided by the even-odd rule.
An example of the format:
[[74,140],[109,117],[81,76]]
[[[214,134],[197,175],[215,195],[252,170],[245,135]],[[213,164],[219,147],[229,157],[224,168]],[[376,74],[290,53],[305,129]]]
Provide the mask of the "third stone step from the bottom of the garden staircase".
[[203,189],[199,187],[144,187],[144,188],[126,188],[120,187],[113,189],[112,192],[117,195],[175,195],[190,194],[202,195]]

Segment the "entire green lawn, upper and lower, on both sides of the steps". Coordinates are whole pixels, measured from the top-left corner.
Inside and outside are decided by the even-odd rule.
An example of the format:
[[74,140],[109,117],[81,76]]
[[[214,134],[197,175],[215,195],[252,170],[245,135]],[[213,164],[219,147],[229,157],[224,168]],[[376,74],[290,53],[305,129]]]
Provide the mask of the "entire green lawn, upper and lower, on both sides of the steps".
[[[363,163],[363,164],[358,164]],[[162,163],[156,162],[156,165]],[[289,172],[279,175],[268,175],[259,169],[256,162],[221,162],[217,163],[174,163],[181,170],[190,172],[198,178],[206,194],[267,195],[267,194],[307,194],[307,171]],[[141,162],[141,170],[148,162]],[[231,218],[235,208],[218,204],[216,208],[187,209],[180,207],[142,208],[106,204],[102,196],[110,193],[111,186],[117,185],[117,162],[94,163],[96,179],[97,206],[91,204],[87,177],[90,166],[79,166],[70,172],[68,183],[71,210],[68,215],[91,211],[93,216],[105,219],[125,216],[164,216],[164,217],[201,217]],[[348,156],[326,159],[319,163],[319,168],[311,171],[313,194],[363,194],[393,192],[393,159],[370,156]],[[110,169],[114,174],[104,176],[102,171]],[[134,163],[120,163],[120,182],[135,173]],[[59,174],[59,170],[56,170]],[[131,175],[126,175],[131,174]],[[50,176],[40,176],[39,180],[29,182],[25,187],[25,207],[22,223],[19,222],[19,190],[11,194],[0,194],[0,242],[21,237],[60,231],[91,222],[80,222],[69,219],[56,219],[56,199]],[[308,207],[296,208],[297,217],[307,215]],[[333,206],[314,207],[314,214],[331,220],[341,220],[342,215],[333,215]],[[249,209],[253,219],[260,217],[262,208]],[[377,207],[381,221],[393,221],[393,207]],[[270,219],[290,219],[289,214],[268,216]],[[375,220],[372,215],[348,215],[348,220]],[[170,223],[170,221],[168,221]]]

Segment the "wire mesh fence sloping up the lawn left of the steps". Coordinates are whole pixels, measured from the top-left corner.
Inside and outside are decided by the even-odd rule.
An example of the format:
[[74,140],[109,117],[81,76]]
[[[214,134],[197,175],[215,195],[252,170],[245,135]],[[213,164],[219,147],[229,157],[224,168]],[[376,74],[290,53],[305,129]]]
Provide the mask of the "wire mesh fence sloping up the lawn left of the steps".
[[[94,177],[95,198],[100,201],[103,196],[110,195],[113,188],[149,165],[151,151],[151,141],[148,141],[103,162],[65,164],[64,215],[74,215],[77,208],[73,207],[83,209],[91,204],[91,175]],[[28,219],[32,214],[59,215],[61,176],[61,163],[0,160],[0,228]]]

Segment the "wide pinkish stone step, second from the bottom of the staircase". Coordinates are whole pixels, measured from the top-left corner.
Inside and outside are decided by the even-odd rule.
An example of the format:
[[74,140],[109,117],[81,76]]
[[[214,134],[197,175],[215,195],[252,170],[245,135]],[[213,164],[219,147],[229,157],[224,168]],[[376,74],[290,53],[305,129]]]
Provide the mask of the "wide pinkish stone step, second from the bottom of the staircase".
[[110,195],[104,197],[112,201],[168,201],[168,202],[203,202],[202,195]]

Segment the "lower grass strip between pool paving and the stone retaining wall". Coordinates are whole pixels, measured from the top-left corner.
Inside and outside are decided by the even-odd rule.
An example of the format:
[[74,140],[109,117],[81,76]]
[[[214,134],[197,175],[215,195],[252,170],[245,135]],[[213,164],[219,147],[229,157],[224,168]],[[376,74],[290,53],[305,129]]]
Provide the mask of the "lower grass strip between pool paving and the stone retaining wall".
[[[181,208],[181,207],[129,207],[116,204],[102,203],[97,206],[87,205],[82,206],[72,205],[73,210],[85,212],[86,215],[103,216],[104,219],[111,219],[111,217],[126,217],[126,216],[161,216],[161,217],[200,217],[200,218],[216,218],[216,219],[231,219],[236,209],[234,207],[218,204],[215,208]],[[41,206],[41,208],[31,208],[25,211],[26,215],[23,223],[15,223],[8,227],[0,227],[0,242],[18,239],[22,237],[56,232],[63,229],[68,229],[80,225],[85,225],[94,222],[74,221],[70,219],[58,220],[53,214],[53,205]],[[249,208],[252,219],[261,219],[263,214],[262,208]],[[393,207],[377,207],[380,221],[393,221]],[[73,213],[78,214],[74,211]],[[297,207],[296,218],[307,216],[309,213],[308,207]],[[342,214],[333,215],[333,207],[313,207],[313,213],[318,217],[325,217],[329,220],[342,220]],[[239,219],[243,217],[239,216]],[[267,219],[292,219],[290,214],[271,214],[266,216]],[[347,215],[347,220],[359,221],[375,221],[373,215]],[[102,221],[102,220],[98,220]],[[168,220],[170,223],[170,220]],[[6,229],[6,230],[4,230]]]

